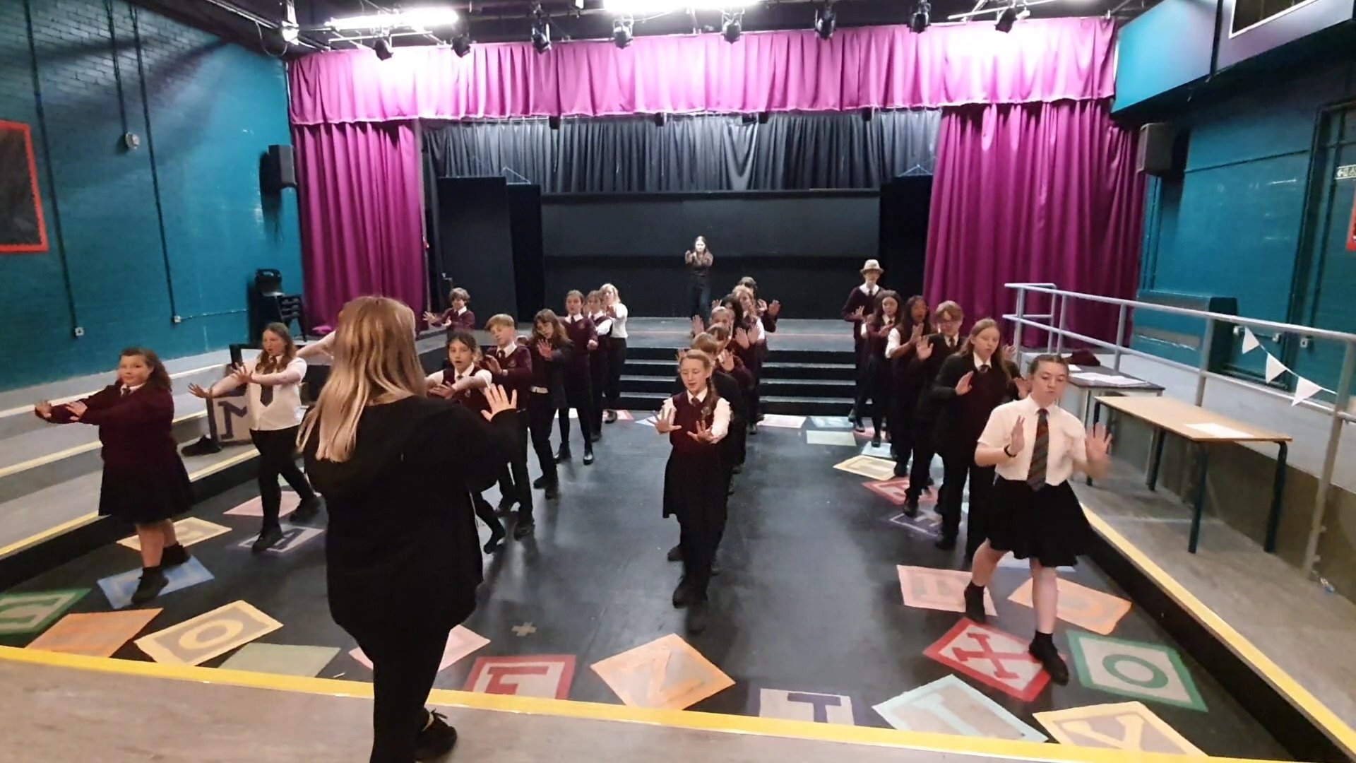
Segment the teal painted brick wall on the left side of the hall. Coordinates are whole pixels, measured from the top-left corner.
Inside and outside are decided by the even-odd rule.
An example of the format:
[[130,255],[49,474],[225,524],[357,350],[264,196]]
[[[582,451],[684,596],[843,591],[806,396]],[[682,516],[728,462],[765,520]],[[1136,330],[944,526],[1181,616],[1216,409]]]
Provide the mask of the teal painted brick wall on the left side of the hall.
[[290,143],[286,87],[281,61],[122,0],[0,1],[0,119],[33,126],[52,242],[0,255],[0,388],[113,368],[126,345],[245,341],[258,267],[301,289],[294,191],[259,191],[260,156]]

